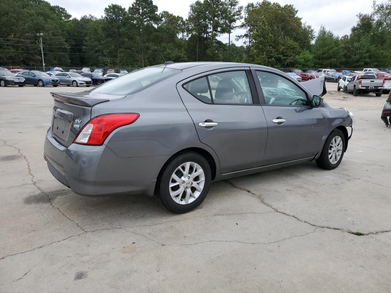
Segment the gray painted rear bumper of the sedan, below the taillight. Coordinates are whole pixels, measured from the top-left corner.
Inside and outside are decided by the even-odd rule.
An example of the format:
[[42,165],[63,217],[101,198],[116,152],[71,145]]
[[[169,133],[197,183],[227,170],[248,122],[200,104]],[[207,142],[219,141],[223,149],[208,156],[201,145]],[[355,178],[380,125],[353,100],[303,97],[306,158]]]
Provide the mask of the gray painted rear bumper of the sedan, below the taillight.
[[79,195],[90,197],[153,195],[154,184],[169,156],[120,158],[106,145],[59,144],[47,132],[44,158],[50,173]]

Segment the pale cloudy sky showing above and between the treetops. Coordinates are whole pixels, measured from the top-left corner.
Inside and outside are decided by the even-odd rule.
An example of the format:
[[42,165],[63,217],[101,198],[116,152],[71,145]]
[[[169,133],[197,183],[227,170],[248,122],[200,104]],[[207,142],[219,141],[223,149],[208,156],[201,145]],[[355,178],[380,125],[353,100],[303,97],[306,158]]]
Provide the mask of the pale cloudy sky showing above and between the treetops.
[[[47,0],[52,5],[59,5],[64,7],[72,17],[80,18],[83,15],[92,14],[100,17],[104,14],[104,9],[109,4],[118,4],[126,9],[133,1],[129,0]],[[261,1],[261,0],[259,0]],[[161,11],[169,11],[172,14],[187,18],[189,6],[195,0],[154,0],[155,5],[158,6],[159,13]],[[248,0],[239,0],[240,5],[245,6]],[[319,30],[321,25],[326,29],[332,30],[334,34],[342,37],[345,34],[350,34],[350,29],[357,22],[356,15],[361,13],[371,13],[372,0],[271,0],[271,2],[278,2],[281,5],[293,4],[298,10],[298,16],[302,18],[303,22],[311,25],[315,32]],[[386,0],[378,0],[386,2]],[[231,34],[231,40],[237,45],[241,45],[240,41],[235,41],[235,35],[242,34],[243,30],[237,29]],[[222,35],[218,38],[224,43],[228,43],[228,35]]]

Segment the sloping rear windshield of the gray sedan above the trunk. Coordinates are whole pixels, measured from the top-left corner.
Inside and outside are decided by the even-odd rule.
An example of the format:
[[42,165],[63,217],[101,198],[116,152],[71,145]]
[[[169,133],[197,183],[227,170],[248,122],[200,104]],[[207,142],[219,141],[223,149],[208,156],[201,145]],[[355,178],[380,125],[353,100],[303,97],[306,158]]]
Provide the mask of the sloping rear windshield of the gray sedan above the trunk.
[[167,67],[148,67],[133,71],[126,75],[117,77],[110,82],[105,82],[96,88],[88,91],[110,95],[129,95],[156,84],[171,75],[181,72],[180,70]]

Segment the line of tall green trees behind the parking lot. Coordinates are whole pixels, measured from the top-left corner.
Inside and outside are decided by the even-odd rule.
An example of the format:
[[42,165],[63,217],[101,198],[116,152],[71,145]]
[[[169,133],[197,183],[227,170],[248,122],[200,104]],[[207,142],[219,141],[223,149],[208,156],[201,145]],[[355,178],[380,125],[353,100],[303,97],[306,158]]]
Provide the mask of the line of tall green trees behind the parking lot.
[[[188,17],[158,12],[152,0],[108,5],[80,19],[44,0],[8,0],[0,10],[0,65],[144,67],[167,61],[233,61],[275,68],[362,68],[390,65],[391,0],[357,15],[350,35],[314,29],[294,5],[269,1],[197,0]],[[233,35],[240,28],[244,33]],[[227,41],[219,36],[228,34]],[[233,40],[241,41],[237,46]]]

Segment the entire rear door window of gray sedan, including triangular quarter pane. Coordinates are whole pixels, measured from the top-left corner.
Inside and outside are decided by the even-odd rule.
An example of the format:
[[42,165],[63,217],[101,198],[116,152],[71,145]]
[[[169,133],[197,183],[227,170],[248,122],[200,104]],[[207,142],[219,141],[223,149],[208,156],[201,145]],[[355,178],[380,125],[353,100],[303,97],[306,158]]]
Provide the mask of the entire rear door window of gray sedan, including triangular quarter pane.
[[184,88],[205,103],[253,104],[244,70],[213,73],[188,82]]

